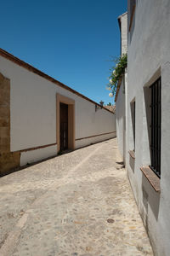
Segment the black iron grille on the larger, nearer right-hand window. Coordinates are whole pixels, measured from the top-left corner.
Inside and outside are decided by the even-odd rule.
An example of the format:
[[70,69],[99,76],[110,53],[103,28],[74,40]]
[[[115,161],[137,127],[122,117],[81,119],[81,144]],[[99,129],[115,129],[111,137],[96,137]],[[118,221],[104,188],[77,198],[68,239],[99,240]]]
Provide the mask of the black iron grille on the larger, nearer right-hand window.
[[151,90],[151,140],[150,140],[150,168],[161,177],[161,78],[150,85]]

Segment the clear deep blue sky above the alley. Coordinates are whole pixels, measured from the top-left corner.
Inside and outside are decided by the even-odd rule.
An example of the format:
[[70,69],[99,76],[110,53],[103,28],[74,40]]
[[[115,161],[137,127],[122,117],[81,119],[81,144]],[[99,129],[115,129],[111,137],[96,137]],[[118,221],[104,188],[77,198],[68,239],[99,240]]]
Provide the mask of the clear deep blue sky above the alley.
[[106,103],[111,56],[120,55],[117,17],[126,0],[2,1],[0,47]]

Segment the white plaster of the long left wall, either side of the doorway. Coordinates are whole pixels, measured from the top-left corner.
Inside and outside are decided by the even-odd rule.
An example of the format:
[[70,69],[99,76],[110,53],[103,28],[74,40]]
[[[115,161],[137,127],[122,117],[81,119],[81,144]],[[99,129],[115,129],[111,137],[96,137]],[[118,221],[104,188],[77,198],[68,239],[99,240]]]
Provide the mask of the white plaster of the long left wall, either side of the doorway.
[[[75,100],[76,139],[116,131],[114,114],[105,109],[95,112],[95,105],[92,102],[2,56],[0,73],[10,79],[11,86],[11,151],[56,143],[56,93]],[[76,148],[111,137],[114,137],[114,134],[77,141]],[[56,146],[23,152],[20,164],[25,165],[27,162],[52,156],[56,152]]]

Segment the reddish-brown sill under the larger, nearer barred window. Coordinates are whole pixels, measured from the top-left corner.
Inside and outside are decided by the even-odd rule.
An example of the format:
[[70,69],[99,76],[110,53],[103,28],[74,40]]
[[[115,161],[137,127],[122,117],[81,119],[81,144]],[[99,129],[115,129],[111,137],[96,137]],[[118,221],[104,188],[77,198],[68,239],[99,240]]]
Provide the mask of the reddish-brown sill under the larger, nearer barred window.
[[160,178],[150,169],[149,166],[143,166],[140,168],[144,176],[148,179],[151,186],[156,190],[156,192],[161,192]]

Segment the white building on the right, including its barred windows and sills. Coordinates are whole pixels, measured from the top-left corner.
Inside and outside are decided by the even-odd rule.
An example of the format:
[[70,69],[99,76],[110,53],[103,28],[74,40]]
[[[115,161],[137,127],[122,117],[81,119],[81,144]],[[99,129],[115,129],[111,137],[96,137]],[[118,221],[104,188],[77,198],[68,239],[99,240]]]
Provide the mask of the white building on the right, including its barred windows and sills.
[[[170,1],[128,0],[127,3],[127,84],[124,98],[121,100],[121,87],[116,96],[118,118],[126,116],[126,149],[122,154],[154,253],[168,256]],[[124,128],[118,129],[120,134]]]

